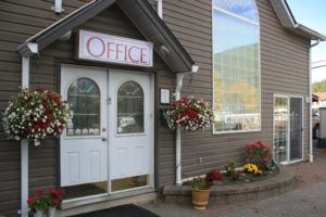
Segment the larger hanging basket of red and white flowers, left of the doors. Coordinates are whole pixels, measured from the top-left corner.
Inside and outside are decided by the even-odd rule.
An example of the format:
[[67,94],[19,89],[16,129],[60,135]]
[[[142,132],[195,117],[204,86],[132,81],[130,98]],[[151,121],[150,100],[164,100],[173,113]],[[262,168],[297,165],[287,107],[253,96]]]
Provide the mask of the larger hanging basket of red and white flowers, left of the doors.
[[25,88],[10,102],[2,120],[9,139],[28,139],[39,145],[40,139],[59,136],[71,118],[68,104],[58,93]]

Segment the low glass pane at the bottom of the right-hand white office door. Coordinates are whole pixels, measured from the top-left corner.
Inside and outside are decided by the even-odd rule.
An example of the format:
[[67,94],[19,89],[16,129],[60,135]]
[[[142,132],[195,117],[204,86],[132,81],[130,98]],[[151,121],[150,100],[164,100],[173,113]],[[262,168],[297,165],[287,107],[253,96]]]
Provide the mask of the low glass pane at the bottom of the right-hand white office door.
[[112,191],[122,191],[149,186],[149,175],[115,179],[111,181]]

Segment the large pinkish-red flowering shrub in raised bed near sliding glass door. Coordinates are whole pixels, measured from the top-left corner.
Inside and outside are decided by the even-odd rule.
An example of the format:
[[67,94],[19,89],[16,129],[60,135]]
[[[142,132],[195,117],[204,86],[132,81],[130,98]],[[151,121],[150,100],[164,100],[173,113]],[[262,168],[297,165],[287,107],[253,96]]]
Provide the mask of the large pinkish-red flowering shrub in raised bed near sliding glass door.
[[265,170],[268,167],[272,158],[271,146],[262,141],[248,143],[244,148],[246,162],[254,164],[260,170]]

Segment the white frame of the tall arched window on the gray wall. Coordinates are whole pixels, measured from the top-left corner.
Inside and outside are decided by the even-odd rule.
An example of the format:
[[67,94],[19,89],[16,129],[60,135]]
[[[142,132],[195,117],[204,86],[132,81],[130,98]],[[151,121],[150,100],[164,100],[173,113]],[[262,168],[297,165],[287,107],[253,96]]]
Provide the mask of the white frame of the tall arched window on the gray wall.
[[215,107],[215,88],[214,88],[214,81],[215,81],[215,76],[214,76],[214,50],[213,50],[213,43],[214,43],[214,11],[220,11],[222,13],[225,13],[227,15],[230,15],[233,17],[236,17],[236,18],[239,18],[243,22],[247,22],[249,24],[252,24],[252,25],[255,25],[258,26],[258,37],[259,37],[259,44],[258,44],[258,56],[259,56],[259,84],[260,84],[260,87],[259,87],[259,97],[260,97],[260,105],[259,105],[259,108],[260,108],[260,127],[259,129],[251,129],[251,130],[222,130],[222,131],[216,131],[215,130],[215,127],[214,127],[214,120],[213,120],[213,127],[212,127],[212,133],[213,135],[226,135],[226,133],[242,133],[242,132],[259,132],[259,131],[262,131],[262,71],[261,71],[261,26],[260,26],[260,15],[259,15],[259,11],[258,11],[258,8],[256,8],[256,4],[255,4],[255,0],[252,0],[253,2],[253,7],[255,9],[255,13],[256,13],[256,17],[258,17],[258,23],[255,22],[252,22],[248,18],[244,18],[240,15],[237,15],[237,14],[234,14],[231,12],[228,12],[224,9],[221,9],[221,8],[217,8],[217,7],[214,7],[213,5],[213,0],[212,0],[212,11],[211,11],[211,15],[212,15],[212,89],[213,89],[213,93],[212,93],[212,106],[213,106],[213,114],[214,114],[214,107]]

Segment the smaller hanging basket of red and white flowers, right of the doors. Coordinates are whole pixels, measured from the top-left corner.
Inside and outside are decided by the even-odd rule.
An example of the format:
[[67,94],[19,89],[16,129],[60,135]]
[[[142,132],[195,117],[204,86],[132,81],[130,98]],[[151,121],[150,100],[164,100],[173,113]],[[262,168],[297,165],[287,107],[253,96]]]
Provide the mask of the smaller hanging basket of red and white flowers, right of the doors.
[[167,110],[165,118],[171,129],[179,126],[184,130],[195,131],[209,129],[213,113],[209,103],[189,95],[173,103]]

